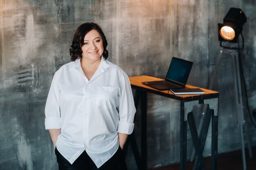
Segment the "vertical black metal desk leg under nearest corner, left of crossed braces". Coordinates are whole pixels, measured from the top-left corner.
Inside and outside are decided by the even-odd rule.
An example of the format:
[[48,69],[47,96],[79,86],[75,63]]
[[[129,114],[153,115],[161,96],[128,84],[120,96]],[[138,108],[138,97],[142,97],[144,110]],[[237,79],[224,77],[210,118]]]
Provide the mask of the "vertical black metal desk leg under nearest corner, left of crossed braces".
[[186,120],[184,120],[184,102],[180,102],[180,170],[186,170]]

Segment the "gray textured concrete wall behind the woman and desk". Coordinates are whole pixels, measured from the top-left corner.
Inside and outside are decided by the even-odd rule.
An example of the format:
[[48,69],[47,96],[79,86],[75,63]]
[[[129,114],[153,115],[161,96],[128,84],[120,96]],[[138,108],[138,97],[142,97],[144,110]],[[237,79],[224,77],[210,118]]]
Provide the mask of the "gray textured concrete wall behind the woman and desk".
[[[254,0],[0,0],[0,169],[57,169],[44,106],[54,72],[70,61],[77,26],[99,23],[108,38],[109,60],[130,76],[163,78],[176,56],[194,62],[188,83],[207,88],[220,50],[217,23],[230,7],[248,17],[242,55],[249,106],[255,111]],[[219,153],[241,147],[232,80],[230,58],[223,57],[213,88],[220,91]],[[202,113],[202,106],[194,109]],[[179,102],[148,94],[148,168],[179,161],[179,114]],[[255,145],[256,130],[248,124]],[[140,145],[139,126],[138,109],[134,132]],[[204,155],[210,154],[209,137],[211,131]],[[188,134],[188,158],[192,148]],[[136,169],[130,149],[126,161]]]

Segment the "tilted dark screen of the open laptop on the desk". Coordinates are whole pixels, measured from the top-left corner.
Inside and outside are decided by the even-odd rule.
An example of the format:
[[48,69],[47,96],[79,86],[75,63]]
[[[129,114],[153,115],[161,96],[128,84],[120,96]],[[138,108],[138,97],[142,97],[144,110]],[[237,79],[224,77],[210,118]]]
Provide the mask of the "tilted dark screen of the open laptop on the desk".
[[186,85],[193,62],[173,57],[165,80]]

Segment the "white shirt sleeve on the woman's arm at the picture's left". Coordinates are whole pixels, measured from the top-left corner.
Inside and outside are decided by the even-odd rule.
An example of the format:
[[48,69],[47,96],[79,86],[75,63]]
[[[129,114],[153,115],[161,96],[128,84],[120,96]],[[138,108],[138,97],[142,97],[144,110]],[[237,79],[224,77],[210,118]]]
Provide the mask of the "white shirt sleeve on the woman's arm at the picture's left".
[[60,89],[58,87],[58,71],[54,74],[45,104],[45,129],[61,128]]

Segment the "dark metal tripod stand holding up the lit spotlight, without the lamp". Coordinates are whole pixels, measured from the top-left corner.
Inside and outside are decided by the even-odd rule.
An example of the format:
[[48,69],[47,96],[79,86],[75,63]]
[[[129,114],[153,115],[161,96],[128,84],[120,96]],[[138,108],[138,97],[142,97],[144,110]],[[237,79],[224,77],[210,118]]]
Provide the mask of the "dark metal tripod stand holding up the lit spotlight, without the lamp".
[[[235,89],[235,97],[236,97],[236,112],[238,118],[238,124],[240,128],[240,136],[241,136],[241,145],[242,145],[242,159],[243,159],[243,170],[246,170],[246,162],[245,162],[245,140],[244,140],[244,129],[245,134],[247,136],[247,144],[249,149],[249,156],[252,157],[252,145],[251,145],[251,137],[249,136],[249,130],[247,126],[247,121],[244,119],[244,113],[248,113],[249,108],[247,107],[247,96],[246,96],[246,86],[245,86],[245,77],[243,73],[243,64],[242,59],[240,57],[240,51],[237,49],[226,49],[223,48],[220,51],[220,55],[217,58],[216,68],[213,72],[212,81],[209,84],[209,89],[213,88],[213,83],[216,78],[216,74],[218,71],[218,67],[220,65],[220,60],[222,55],[229,55],[232,59],[233,66],[233,77],[234,77],[234,89]],[[203,109],[203,113],[205,113],[206,107]],[[203,116],[200,119],[198,129],[201,130],[203,121]],[[195,151],[192,151],[191,161],[193,161],[195,155]]]

